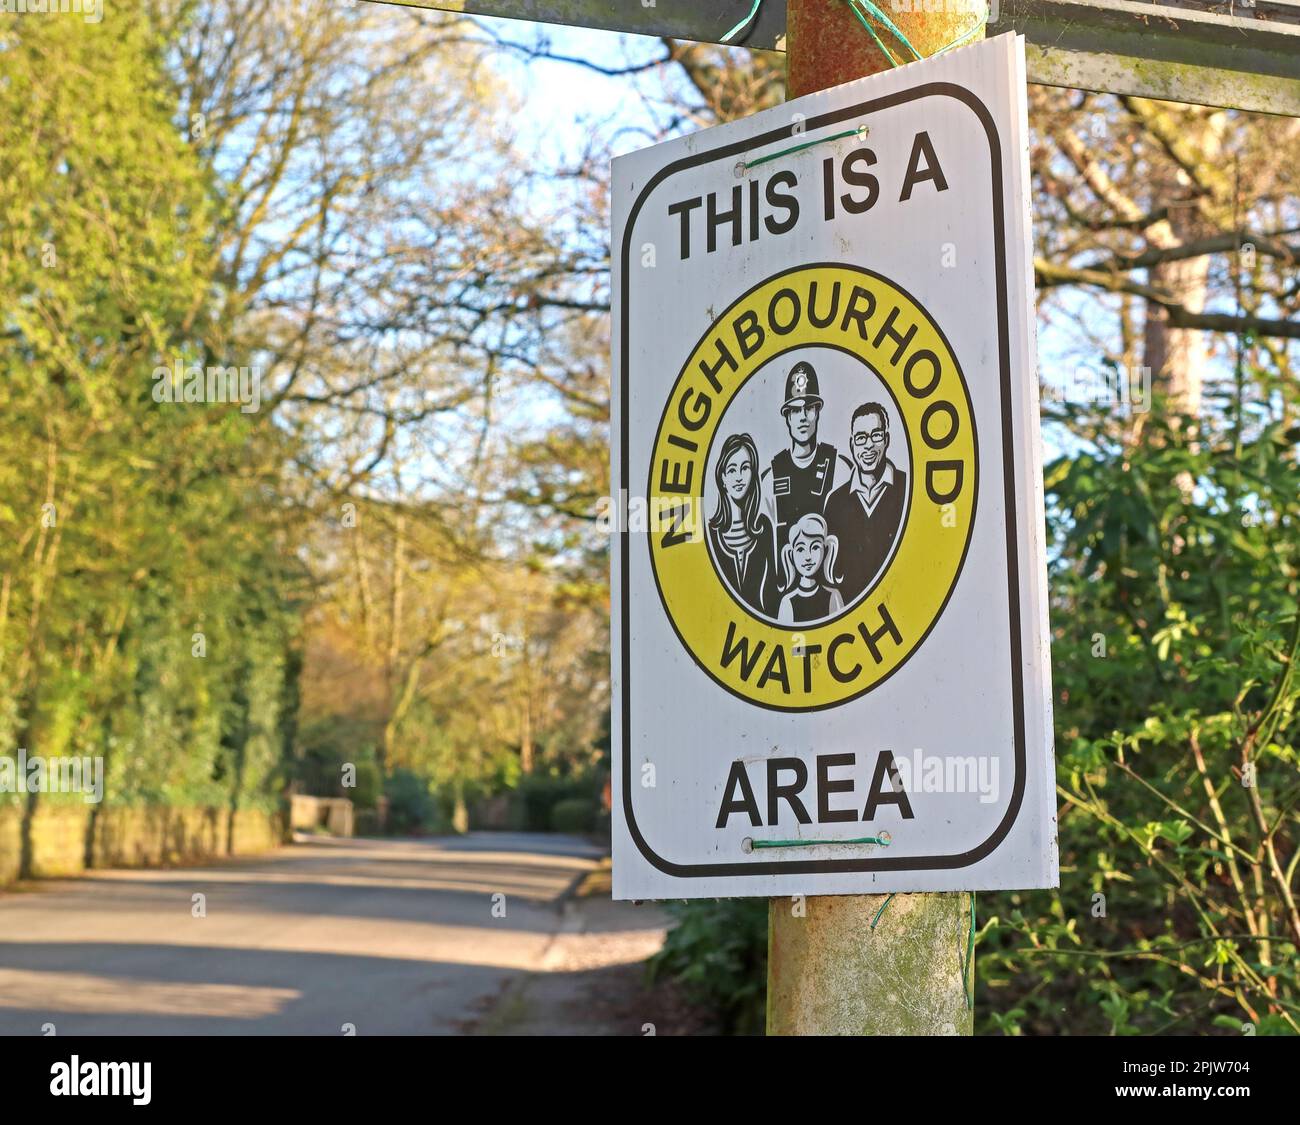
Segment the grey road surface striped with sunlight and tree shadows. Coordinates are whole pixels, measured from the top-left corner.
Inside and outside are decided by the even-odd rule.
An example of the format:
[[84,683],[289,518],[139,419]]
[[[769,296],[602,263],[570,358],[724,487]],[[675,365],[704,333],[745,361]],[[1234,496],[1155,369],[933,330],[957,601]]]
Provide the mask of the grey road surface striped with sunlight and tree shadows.
[[575,909],[601,857],[534,834],[313,838],[26,884],[0,892],[0,1034],[606,1031],[573,1025],[563,974],[632,965],[663,930]]

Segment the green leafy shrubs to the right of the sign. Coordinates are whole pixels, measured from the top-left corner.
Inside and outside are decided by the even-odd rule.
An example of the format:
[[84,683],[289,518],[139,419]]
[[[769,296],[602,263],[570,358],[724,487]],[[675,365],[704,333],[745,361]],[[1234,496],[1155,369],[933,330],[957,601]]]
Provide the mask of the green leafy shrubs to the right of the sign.
[[1046,471],[1061,891],[980,896],[982,1026],[1295,1034],[1294,438],[1076,429]]

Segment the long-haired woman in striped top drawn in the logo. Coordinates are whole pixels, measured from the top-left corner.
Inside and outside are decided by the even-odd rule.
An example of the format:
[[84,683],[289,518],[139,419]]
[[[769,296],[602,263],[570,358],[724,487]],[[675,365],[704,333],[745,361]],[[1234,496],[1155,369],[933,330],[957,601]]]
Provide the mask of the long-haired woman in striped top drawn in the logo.
[[745,605],[766,616],[776,609],[772,523],[759,511],[758,449],[748,433],[723,442],[714,467],[718,507],[708,520],[714,562]]

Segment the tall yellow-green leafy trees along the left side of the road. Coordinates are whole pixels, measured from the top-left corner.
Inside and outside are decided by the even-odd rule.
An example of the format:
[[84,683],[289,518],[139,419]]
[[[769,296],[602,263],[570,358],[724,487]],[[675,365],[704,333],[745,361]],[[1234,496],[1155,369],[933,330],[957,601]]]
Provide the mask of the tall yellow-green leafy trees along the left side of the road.
[[140,9],[0,29],[0,744],[101,754],[105,800],[274,808],[300,576],[285,438],[160,403],[214,354],[212,177]]

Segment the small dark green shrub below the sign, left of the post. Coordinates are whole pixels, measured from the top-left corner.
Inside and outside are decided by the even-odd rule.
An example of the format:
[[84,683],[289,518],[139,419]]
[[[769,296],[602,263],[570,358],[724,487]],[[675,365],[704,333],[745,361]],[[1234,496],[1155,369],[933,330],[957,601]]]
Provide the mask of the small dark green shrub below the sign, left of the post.
[[767,998],[767,899],[696,899],[668,904],[676,925],[649,961],[714,1013],[732,1035],[762,1035]]

